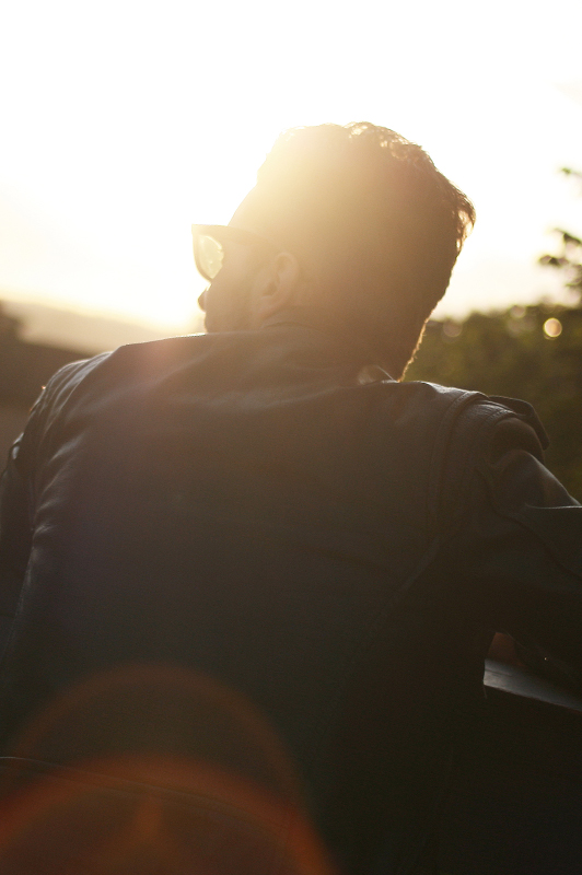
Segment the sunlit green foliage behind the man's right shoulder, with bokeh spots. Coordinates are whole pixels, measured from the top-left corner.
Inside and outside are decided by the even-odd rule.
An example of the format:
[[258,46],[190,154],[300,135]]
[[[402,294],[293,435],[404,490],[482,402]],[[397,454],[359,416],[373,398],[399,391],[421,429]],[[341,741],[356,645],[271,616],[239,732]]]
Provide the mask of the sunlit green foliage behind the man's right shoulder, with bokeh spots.
[[582,500],[582,306],[431,322],[406,378],[529,401],[550,439],[548,467]]

